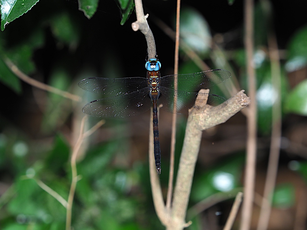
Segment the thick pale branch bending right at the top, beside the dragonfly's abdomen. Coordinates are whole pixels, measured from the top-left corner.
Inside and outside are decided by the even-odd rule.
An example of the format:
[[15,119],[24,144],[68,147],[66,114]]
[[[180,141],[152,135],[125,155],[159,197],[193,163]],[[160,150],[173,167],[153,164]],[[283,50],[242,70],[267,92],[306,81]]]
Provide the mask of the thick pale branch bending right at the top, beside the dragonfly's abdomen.
[[185,223],[184,220],[200,148],[202,131],[226,122],[230,117],[246,107],[250,103],[250,98],[243,92],[244,90],[241,90],[230,98],[228,100],[228,105],[222,109],[210,113],[189,115],[173,197],[172,219],[177,220],[177,223]]

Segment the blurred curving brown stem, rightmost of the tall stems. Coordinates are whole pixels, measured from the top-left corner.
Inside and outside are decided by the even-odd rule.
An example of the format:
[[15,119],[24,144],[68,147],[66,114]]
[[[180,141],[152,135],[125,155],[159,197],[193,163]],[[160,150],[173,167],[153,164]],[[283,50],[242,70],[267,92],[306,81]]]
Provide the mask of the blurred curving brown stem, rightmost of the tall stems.
[[[264,3],[265,6],[269,6],[270,4],[267,1],[262,1],[262,3]],[[264,7],[263,10],[265,10]],[[269,12],[271,12],[270,9],[267,9],[267,15],[270,14]],[[268,20],[270,20],[270,18]],[[272,106],[272,133],[270,155],[257,230],[266,230],[269,225],[272,192],[276,183],[281,141],[281,72],[279,61],[280,56],[276,36],[274,34],[274,31],[272,31],[273,28],[271,27],[270,30],[271,31],[268,34],[268,47],[271,63],[272,86],[277,97]]]

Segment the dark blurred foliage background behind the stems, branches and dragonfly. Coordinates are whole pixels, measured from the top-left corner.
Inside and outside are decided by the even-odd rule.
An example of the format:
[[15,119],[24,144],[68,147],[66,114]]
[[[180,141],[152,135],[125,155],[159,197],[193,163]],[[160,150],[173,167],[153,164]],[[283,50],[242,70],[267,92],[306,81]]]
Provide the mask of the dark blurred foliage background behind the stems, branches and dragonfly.
[[[262,5],[261,5],[262,4]],[[173,74],[176,2],[144,1],[153,31],[162,76]],[[282,68],[282,143],[269,229],[304,229],[307,211],[307,2],[256,1],[255,68],[258,101],[258,155],[254,215],[256,229],[270,148],[272,90],[267,34],[273,28]],[[266,14],[266,12],[269,12]],[[243,1],[182,1],[182,41],[209,69],[226,69],[231,80],[210,93],[230,98],[247,90],[243,45]],[[270,27],[270,18],[272,27]],[[67,199],[70,155],[76,144],[82,107],[102,98],[78,88],[87,77],[146,77],[146,41],[124,25],[116,2],[100,1],[88,19],[71,0],[39,1],[0,32],[0,222],[3,229],[64,229],[66,209],[43,190],[44,182]],[[305,52],[306,51],[306,52]],[[37,89],[7,69],[11,60],[22,72],[80,97],[76,102]],[[179,73],[200,69],[180,50]],[[248,92],[246,92],[248,95]],[[306,96],[306,97],[305,97]],[[148,142],[152,111],[115,119],[86,138],[77,159],[78,181],[73,204],[74,229],[163,229],[151,200]],[[167,188],[172,114],[159,111],[163,188]],[[186,115],[178,116],[176,168]],[[100,118],[90,117],[85,130]],[[246,118],[238,113],[225,124],[203,132],[190,206],[212,198],[210,208],[193,217],[190,229],[221,229],[240,190],[246,152]],[[176,170],[176,169],[175,169]],[[25,176],[26,175],[26,176]],[[34,180],[35,179],[35,180]],[[22,192],[21,192],[22,191]],[[166,190],[164,190],[166,194]],[[221,194],[221,199],[217,198]],[[230,197],[231,197],[230,196]],[[222,202],[220,202],[222,200]],[[298,202],[300,201],[300,202]],[[209,202],[210,203],[210,202]],[[208,204],[209,204],[208,203]],[[210,203],[211,204],[211,203]],[[194,210],[190,210],[193,213]],[[238,217],[240,218],[240,217]],[[237,227],[237,226],[236,226]],[[17,229],[17,227],[15,228]]]

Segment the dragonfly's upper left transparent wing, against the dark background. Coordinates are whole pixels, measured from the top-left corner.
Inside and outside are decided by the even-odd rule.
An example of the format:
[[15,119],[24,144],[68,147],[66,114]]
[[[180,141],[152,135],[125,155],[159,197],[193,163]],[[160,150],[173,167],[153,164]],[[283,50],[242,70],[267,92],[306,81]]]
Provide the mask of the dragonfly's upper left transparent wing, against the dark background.
[[104,94],[106,97],[127,95],[148,88],[147,78],[86,78],[78,83],[81,89],[92,93]]

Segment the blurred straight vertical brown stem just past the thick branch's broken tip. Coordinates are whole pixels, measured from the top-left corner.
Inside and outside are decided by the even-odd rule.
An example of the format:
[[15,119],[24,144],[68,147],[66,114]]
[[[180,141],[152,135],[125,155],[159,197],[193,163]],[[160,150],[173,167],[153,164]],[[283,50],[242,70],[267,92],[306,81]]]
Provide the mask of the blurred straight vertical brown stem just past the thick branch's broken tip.
[[256,76],[253,63],[254,49],[254,1],[245,0],[245,48],[248,75],[248,93],[251,104],[247,114],[247,157],[244,178],[244,201],[242,208],[241,230],[250,229],[255,188],[256,150],[257,150],[257,102]]

